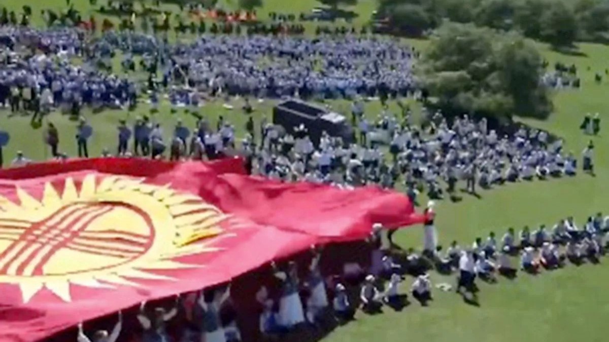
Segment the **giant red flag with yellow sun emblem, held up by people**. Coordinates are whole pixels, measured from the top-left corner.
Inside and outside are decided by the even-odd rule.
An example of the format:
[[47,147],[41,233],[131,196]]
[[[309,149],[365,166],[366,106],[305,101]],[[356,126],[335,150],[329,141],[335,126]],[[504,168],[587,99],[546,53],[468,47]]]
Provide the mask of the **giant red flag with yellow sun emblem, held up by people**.
[[406,197],[204,164],[87,159],[0,172],[0,341],[35,341],[143,300],[230,281],[372,223],[420,223]]

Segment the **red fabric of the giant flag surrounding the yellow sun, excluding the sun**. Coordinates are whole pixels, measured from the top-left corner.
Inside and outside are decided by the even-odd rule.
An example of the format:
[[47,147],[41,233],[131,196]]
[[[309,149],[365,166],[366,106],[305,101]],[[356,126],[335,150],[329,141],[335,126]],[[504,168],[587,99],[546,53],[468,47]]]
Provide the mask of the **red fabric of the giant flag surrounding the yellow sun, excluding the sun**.
[[99,179],[110,175],[142,177],[146,184],[171,184],[179,192],[197,194],[230,215],[221,226],[234,236],[218,239],[213,245],[218,250],[213,253],[174,259],[204,267],[148,270],[177,281],[129,278],[140,287],[114,284],[111,289],[71,284],[69,302],[43,288],[23,304],[19,286],[2,282],[4,274],[0,273],[0,341],[42,340],[79,321],[108,315],[143,300],[231,281],[272,260],[306,251],[314,244],[363,239],[375,222],[398,228],[424,220],[423,215],[414,213],[406,197],[395,192],[276,183],[245,175],[240,159],[211,163],[82,159],[33,164],[1,170],[0,195],[19,204],[18,186],[40,200],[46,183],[61,193],[66,178],[72,178],[80,189],[85,176],[91,174]]

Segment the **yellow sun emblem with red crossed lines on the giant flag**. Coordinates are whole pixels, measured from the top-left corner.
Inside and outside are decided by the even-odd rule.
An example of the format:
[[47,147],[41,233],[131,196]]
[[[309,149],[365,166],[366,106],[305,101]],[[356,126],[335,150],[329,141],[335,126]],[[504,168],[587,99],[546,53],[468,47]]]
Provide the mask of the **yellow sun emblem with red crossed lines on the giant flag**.
[[70,284],[114,287],[126,279],[166,279],[152,270],[199,267],[176,257],[216,251],[191,243],[222,234],[227,218],[202,198],[124,176],[66,178],[62,194],[46,183],[41,200],[16,187],[0,197],[0,283],[23,302],[47,288],[71,301]]

